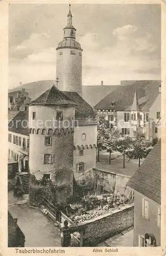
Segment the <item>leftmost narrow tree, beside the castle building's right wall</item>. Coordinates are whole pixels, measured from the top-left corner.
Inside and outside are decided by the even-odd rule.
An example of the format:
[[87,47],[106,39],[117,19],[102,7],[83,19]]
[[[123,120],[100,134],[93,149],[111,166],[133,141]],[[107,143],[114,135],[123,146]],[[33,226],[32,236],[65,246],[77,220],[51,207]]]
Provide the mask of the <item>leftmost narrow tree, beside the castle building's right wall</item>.
[[109,122],[105,120],[105,115],[101,114],[98,116],[98,125],[97,125],[97,150],[98,157],[97,161],[100,161],[100,151],[105,149],[106,142],[106,130],[109,128]]

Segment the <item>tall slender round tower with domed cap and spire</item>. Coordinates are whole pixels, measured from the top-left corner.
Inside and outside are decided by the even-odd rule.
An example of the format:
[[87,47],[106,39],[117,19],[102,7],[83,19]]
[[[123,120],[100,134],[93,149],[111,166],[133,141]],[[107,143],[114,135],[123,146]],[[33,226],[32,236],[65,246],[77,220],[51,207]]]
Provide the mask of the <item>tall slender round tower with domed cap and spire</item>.
[[82,49],[75,40],[76,29],[72,25],[69,5],[68,24],[64,28],[64,39],[57,47],[58,89],[82,94]]

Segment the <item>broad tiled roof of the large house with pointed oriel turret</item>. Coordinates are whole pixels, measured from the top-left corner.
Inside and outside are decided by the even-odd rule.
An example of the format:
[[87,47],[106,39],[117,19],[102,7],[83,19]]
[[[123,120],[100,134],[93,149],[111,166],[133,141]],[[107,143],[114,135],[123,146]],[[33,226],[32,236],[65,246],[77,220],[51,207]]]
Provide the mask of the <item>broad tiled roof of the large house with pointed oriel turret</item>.
[[[99,110],[111,110],[124,111],[133,103],[134,92],[136,90],[138,99],[144,98],[142,102],[142,111],[149,111],[150,106],[156,99],[159,93],[159,84],[161,81],[148,80],[148,81],[135,81],[127,86],[120,86],[113,92],[110,92],[106,97],[100,100],[95,106],[95,109]],[[115,101],[115,106],[111,103]],[[141,108],[140,106],[140,108]]]

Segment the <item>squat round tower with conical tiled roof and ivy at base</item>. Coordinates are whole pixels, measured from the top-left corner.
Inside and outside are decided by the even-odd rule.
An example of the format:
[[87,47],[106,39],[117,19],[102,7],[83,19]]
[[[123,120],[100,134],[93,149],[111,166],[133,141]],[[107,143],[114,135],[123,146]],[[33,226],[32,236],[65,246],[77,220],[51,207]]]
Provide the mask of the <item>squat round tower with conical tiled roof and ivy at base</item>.
[[73,194],[74,115],[75,103],[55,86],[29,104],[30,173],[65,186],[57,190],[59,202]]

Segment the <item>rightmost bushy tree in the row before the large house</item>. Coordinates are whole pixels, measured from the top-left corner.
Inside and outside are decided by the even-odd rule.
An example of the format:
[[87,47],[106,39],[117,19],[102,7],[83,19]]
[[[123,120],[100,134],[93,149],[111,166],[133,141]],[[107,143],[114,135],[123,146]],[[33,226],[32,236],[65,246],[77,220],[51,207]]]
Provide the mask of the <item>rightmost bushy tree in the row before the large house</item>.
[[127,152],[129,159],[139,159],[139,167],[141,159],[146,158],[152,149],[152,143],[145,138],[144,134],[134,132],[132,137],[132,145]]

